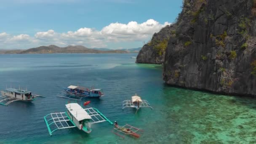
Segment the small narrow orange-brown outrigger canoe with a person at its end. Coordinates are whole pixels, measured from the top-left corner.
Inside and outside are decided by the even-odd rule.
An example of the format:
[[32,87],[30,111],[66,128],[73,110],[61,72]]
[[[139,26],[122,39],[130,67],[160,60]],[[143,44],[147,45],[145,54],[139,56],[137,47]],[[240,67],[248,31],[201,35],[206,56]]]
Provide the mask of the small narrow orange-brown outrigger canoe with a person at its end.
[[[135,128],[131,125],[124,125],[124,126],[120,126],[117,124],[117,122],[114,123],[115,125],[115,130],[120,132],[120,133],[124,133],[124,134],[128,134],[128,135],[131,135],[131,136],[134,136],[136,138],[139,138],[140,135],[138,133],[136,133],[137,131],[142,131],[140,128]],[[114,131],[112,131],[112,133],[116,134],[117,136],[120,136],[122,137],[123,139],[125,138],[124,136],[122,136],[120,133],[116,133]]]

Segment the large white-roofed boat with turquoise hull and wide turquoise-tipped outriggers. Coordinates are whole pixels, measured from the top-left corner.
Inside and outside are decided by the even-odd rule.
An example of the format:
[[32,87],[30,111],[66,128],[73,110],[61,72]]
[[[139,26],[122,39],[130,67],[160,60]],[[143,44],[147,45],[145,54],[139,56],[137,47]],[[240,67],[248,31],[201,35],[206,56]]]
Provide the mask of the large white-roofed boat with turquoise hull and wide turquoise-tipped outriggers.
[[[58,129],[77,127],[85,133],[91,133],[91,124],[109,122],[113,124],[96,108],[83,109],[79,104],[71,102],[66,104],[67,112],[55,112],[44,116],[50,136]],[[48,119],[48,117],[50,117]],[[55,129],[51,130],[51,127]]]

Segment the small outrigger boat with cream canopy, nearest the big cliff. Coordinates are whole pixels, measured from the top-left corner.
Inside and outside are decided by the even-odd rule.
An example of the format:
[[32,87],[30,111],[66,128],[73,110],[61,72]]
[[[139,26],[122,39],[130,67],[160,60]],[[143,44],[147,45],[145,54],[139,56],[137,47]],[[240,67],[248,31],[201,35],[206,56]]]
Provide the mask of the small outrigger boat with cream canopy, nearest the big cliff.
[[123,101],[123,109],[125,107],[136,108],[137,110],[139,110],[139,108],[141,107],[150,107],[151,109],[153,109],[148,101],[141,100],[141,97],[137,96],[137,94],[135,94],[135,96],[132,96],[131,100]]

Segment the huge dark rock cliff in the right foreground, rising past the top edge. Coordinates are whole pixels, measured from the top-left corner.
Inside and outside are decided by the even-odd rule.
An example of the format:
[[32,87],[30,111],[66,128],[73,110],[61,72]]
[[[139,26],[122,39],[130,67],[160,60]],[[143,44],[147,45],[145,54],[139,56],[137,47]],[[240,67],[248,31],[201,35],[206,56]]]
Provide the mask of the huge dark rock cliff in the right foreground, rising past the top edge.
[[[185,0],[176,25],[165,51],[165,83],[256,95],[256,0]],[[154,62],[139,62],[148,59]]]

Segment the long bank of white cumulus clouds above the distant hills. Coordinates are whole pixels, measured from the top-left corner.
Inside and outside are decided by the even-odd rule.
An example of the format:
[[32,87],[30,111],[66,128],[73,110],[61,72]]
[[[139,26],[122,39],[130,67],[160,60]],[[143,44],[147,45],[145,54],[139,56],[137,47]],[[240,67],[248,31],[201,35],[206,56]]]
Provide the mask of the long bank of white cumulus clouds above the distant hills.
[[[16,43],[24,44],[24,46],[37,47],[39,45],[85,45],[87,47],[107,47],[107,43],[123,43],[149,40],[155,32],[169,25],[165,22],[160,24],[154,19],[149,19],[141,24],[136,21],[130,21],[128,24],[111,23],[101,30],[83,27],[76,31],[68,31],[64,33],[55,32],[49,29],[45,32],[37,32],[33,37],[27,34],[11,36],[6,32],[0,33],[1,47],[12,48]],[[26,44],[27,42],[27,44]],[[13,45],[13,46],[10,46]]]

